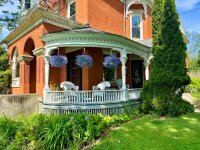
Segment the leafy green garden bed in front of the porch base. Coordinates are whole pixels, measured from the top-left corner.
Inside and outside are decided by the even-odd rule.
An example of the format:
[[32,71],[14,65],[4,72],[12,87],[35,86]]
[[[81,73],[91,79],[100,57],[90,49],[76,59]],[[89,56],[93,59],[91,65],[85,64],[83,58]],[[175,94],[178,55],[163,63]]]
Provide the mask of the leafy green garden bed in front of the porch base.
[[80,149],[131,115],[35,114],[28,118],[0,118],[0,149]]

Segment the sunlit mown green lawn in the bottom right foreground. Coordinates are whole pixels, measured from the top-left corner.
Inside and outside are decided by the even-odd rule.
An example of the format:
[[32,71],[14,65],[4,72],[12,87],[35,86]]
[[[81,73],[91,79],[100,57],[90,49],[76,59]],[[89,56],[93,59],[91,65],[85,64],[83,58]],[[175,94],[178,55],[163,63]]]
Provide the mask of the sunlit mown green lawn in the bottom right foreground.
[[133,120],[100,141],[92,150],[199,150],[200,113],[165,119]]

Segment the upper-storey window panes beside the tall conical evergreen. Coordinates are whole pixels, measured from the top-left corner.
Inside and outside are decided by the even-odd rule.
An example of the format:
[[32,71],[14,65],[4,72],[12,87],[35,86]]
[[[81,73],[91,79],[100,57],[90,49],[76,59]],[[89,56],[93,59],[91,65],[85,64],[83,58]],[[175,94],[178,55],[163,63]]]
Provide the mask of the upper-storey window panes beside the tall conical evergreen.
[[131,16],[131,38],[142,39],[142,15]]

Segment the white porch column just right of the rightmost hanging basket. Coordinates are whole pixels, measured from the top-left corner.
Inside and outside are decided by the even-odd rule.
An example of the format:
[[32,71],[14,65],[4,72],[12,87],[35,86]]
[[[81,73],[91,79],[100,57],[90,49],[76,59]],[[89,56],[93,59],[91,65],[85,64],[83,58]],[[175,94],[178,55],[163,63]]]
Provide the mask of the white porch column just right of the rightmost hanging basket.
[[120,60],[122,63],[122,89],[126,89],[126,61],[127,61],[127,52],[123,50],[120,52]]

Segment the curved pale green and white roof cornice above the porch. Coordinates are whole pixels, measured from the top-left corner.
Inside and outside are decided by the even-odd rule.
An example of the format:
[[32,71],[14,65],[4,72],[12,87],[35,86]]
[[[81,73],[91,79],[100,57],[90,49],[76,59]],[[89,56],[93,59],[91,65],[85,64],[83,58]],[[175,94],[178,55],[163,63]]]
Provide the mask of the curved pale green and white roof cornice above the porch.
[[151,54],[151,48],[126,37],[107,32],[84,28],[71,31],[63,31],[46,34],[41,37],[45,42],[45,55],[58,47],[101,47],[111,48],[116,51],[126,51],[143,58]]

